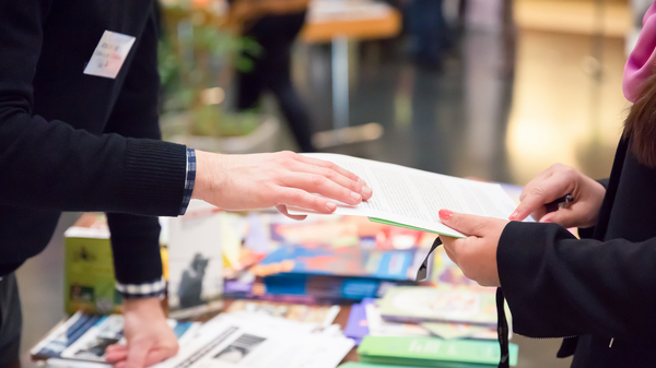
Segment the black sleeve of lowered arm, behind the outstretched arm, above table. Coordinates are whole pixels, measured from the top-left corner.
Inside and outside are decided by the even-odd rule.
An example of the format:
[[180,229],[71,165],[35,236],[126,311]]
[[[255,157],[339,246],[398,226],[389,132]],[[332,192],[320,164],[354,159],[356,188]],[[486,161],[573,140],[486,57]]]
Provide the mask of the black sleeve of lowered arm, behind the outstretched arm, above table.
[[[106,131],[122,136],[160,139],[157,32],[152,13],[136,47]],[[116,280],[143,285],[162,278],[160,223],[154,216],[107,213]],[[130,297],[128,293],[124,296]]]

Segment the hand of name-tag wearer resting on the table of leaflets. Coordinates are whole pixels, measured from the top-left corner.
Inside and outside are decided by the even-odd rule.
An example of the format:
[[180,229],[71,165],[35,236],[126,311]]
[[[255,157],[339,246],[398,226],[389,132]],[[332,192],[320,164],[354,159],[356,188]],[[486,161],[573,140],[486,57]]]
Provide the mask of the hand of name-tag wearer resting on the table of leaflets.
[[177,339],[166,323],[160,298],[125,299],[122,309],[128,344],[108,346],[107,361],[116,368],[142,368],[177,354]]

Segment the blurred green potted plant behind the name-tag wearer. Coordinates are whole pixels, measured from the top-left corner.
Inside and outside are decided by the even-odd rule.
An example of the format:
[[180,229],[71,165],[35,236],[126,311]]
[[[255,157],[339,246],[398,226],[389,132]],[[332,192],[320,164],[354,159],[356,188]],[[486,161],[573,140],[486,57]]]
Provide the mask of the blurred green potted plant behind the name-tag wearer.
[[220,20],[202,9],[175,5],[163,9],[163,15],[165,32],[159,45],[162,110],[189,112],[190,118],[186,131],[177,133],[235,136],[255,130],[256,112],[229,112],[221,104],[223,97],[208,100],[203,94],[227,84],[232,68],[253,69],[245,55],[258,55],[260,46],[222,29]]

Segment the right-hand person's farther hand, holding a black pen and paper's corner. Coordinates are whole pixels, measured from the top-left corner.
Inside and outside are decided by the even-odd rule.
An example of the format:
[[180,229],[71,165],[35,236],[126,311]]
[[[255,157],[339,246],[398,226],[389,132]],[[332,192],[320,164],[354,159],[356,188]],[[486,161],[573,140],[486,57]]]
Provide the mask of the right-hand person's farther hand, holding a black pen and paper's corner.
[[[547,213],[544,204],[565,194],[574,202],[555,212]],[[555,223],[564,227],[590,227],[597,216],[606,189],[572,167],[555,164],[532,179],[522,191],[519,206],[509,219],[523,221],[532,214],[540,223]]]

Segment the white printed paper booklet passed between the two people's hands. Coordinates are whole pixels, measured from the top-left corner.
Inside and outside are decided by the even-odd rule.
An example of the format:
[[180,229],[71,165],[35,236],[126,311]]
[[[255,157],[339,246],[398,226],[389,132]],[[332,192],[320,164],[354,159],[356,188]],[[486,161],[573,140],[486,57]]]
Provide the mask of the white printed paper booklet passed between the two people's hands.
[[[499,183],[481,182],[394,164],[339,154],[313,153],[308,157],[332,162],[362,178],[374,191],[359,205],[338,203],[335,214],[367,216],[371,221],[461,238],[440,221],[442,209],[507,219],[515,201]],[[292,214],[315,213],[289,207]]]

